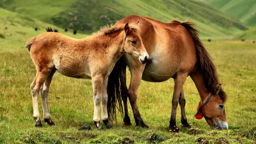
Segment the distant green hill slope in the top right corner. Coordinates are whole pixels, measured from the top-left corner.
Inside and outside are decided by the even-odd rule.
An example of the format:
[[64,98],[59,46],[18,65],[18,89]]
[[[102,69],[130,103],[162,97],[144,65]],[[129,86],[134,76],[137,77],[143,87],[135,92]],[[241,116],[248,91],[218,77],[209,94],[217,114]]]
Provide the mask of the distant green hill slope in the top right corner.
[[248,26],[256,26],[256,0],[205,0]]

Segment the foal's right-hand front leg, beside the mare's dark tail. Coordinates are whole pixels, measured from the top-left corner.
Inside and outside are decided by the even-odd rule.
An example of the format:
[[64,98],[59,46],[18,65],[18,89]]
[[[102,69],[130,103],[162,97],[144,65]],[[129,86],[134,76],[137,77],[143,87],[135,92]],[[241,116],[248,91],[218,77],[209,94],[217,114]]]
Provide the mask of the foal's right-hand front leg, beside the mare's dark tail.
[[108,104],[108,93],[107,93],[107,87],[108,87],[108,78],[103,80],[103,85],[102,85],[102,97],[101,97],[101,118],[103,123],[106,125],[106,128],[112,128],[111,124],[108,121],[108,109],[107,109],[107,104]]

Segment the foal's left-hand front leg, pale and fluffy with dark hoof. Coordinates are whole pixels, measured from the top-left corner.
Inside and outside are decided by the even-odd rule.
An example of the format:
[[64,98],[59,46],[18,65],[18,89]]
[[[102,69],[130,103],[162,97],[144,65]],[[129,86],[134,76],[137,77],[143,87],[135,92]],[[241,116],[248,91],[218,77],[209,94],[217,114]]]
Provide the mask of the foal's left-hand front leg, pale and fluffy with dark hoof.
[[102,83],[103,77],[100,75],[94,76],[92,78],[92,86],[93,86],[93,102],[94,102],[94,115],[93,121],[98,130],[103,129],[100,124],[100,102],[102,97]]

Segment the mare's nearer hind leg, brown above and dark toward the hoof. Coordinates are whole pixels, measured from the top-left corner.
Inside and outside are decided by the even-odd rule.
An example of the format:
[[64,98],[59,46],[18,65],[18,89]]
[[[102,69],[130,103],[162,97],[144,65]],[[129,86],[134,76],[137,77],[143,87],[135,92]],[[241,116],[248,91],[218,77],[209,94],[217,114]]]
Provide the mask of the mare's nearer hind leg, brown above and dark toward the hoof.
[[[128,98],[129,98],[130,104],[132,106],[132,112],[134,114],[136,126],[148,128],[148,126],[143,122],[143,120],[140,116],[138,106],[137,106],[137,91],[138,91],[138,87],[140,86],[142,72],[143,72],[145,66],[146,66],[145,64],[140,64],[139,62],[138,63],[134,62],[132,64],[131,63],[128,64],[128,67],[131,72],[131,80],[130,80],[130,85],[128,88]],[[125,116],[127,117],[128,114],[127,115],[125,114]]]

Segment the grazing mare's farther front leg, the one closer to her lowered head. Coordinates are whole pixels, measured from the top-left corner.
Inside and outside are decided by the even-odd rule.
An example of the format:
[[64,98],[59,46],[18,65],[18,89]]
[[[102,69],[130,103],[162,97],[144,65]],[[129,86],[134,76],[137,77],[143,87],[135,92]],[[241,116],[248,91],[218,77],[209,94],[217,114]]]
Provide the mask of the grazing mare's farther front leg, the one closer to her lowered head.
[[187,122],[186,113],[185,113],[186,100],[184,97],[183,88],[181,89],[181,92],[180,92],[179,104],[180,104],[180,110],[181,110],[181,124],[185,128],[190,128],[190,125]]

